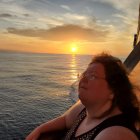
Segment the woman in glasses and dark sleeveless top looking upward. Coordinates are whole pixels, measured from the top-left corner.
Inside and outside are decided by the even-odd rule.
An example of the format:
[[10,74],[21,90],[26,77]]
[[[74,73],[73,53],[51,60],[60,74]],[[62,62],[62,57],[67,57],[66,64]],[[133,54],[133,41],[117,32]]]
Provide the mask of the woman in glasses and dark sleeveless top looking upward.
[[79,99],[63,115],[37,127],[26,140],[66,129],[65,140],[140,139],[136,130],[139,103],[118,58],[108,54],[93,58],[80,77]]

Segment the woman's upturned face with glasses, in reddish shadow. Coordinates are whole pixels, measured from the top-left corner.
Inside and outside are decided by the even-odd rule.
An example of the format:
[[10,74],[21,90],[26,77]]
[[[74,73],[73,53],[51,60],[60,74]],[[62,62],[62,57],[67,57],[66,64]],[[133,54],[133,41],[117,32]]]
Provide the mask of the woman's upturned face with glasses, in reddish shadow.
[[86,105],[103,104],[112,99],[112,91],[105,79],[101,63],[90,64],[79,82],[79,98]]

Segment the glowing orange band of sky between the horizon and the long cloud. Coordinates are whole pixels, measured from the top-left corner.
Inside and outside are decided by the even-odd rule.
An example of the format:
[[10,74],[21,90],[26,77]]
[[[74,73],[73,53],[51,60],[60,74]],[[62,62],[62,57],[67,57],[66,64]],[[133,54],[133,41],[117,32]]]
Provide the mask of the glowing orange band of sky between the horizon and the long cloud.
[[[121,40],[121,39],[120,39]],[[119,39],[116,41],[105,42],[90,42],[83,40],[68,40],[65,41],[47,41],[33,37],[21,37],[18,35],[8,34],[0,35],[0,49],[22,51],[22,52],[35,52],[35,53],[72,53],[72,44],[77,47],[77,54],[96,54],[102,51],[110,52],[113,54],[124,55],[132,50],[133,37],[127,42],[122,42]]]

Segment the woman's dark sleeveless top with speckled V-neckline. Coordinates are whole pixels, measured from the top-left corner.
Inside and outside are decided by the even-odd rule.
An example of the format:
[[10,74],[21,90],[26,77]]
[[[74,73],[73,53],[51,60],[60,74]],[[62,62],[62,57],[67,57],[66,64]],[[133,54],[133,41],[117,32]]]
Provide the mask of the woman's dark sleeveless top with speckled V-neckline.
[[85,132],[77,137],[75,137],[76,131],[81,124],[81,122],[86,117],[86,109],[82,110],[79,114],[77,120],[75,121],[72,128],[67,132],[65,140],[94,140],[95,137],[105,128],[111,127],[111,126],[123,126],[131,130],[140,140],[140,135],[134,125],[131,123],[131,121],[128,119],[128,116],[125,114],[119,114],[115,115],[113,117],[109,117],[100,124],[98,124],[93,129],[89,130],[88,132]]

